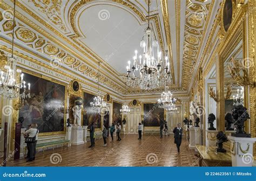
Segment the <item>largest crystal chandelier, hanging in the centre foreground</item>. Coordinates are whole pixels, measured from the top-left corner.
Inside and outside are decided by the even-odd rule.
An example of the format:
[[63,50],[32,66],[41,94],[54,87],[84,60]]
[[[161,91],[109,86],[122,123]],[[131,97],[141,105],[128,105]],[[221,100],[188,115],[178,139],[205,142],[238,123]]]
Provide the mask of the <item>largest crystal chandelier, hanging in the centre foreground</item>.
[[[161,52],[159,51],[159,43],[154,38],[154,33],[149,25],[150,19],[150,3],[148,2],[148,26],[144,32],[144,36],[140,41],[140,47],[143,48],[143,55],[139,55],[135,51],[133,57],[133,66],[131,61],[128,61],[127,69],[127,85],[133,88],[139,87],[141,89],[154,89],[159,88],[167,82],[170,76],[170,64],[165,57],[165,66],[161,60]],[[157,57],[156,57],[157,56]],[[163,65],[164,71],[161,71]]]

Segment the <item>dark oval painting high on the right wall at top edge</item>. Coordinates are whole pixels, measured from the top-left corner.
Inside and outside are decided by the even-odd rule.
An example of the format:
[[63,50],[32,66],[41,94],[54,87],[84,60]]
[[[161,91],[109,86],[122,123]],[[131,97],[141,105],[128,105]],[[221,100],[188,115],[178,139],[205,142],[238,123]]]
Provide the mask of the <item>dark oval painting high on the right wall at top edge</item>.
[[228,30],[232,22],[232,0],[226,0],[223,9],[223,25],[225,31]]

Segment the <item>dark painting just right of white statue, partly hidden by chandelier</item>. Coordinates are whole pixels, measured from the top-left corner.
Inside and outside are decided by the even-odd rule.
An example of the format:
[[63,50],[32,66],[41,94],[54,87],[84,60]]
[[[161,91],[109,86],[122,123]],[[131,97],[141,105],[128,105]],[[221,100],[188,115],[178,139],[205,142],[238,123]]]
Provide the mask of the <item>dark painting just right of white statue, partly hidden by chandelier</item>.
[[90,102],[93,101],[95,95],[88,94],[84,92],[84,116],[83,116],[83,125],[89,126],[91,122],[95,123],[95,128],[101,128],[101,116],[96,110],[94,110]]

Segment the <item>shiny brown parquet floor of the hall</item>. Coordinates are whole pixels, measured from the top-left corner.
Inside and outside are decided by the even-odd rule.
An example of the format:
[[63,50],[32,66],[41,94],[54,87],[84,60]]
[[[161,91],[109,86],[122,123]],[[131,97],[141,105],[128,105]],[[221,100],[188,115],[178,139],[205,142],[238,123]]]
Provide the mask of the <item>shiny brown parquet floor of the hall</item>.
[[[116,137],[114,137],[116,138]],[[96,141],[94,148],[88,148],[90,142],[72,145],[55,150],[38,152],[36,161],[25,159],[9,161],[7,166],[198,166],[194,150],[188,148],[188,141],[183,140],[178,154],[173,136],[122,135],[122,141],[111,142],[103,147],[103,139]]]

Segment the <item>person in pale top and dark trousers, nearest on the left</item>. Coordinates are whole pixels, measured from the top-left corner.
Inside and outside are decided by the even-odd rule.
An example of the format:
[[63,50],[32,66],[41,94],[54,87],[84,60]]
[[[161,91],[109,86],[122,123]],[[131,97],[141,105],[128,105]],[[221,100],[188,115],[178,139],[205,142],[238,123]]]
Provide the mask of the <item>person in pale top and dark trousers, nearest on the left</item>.
[[25,143],[28,145],[28,150],[29,150],[29,157],[26,162],[32,162],[36,158],[36,143],[38,139],[38,129],[37,129],[37,124],[32,123],[31,127],[29,130],[25,131],[25,135],[28,135],[25,139]]

